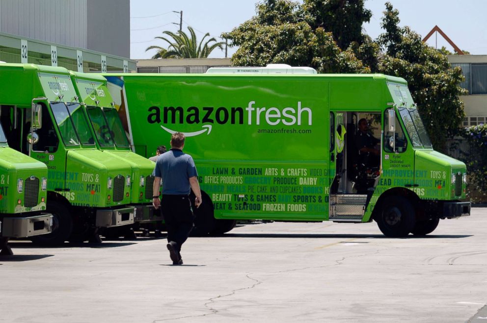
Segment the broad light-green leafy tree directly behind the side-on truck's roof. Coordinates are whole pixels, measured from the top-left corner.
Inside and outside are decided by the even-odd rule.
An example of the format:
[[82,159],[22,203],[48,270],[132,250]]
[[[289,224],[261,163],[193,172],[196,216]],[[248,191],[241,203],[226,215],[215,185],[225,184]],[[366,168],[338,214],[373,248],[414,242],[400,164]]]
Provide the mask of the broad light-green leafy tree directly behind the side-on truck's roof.
[[256,5],[257,15],[224,33],[239,46],[232,65],[265,66],[285,63],[310,66],[319,73],[368,73],[352,49],[341,50],[332,32],[306,21],[311,15],[290,0],[266,0]]

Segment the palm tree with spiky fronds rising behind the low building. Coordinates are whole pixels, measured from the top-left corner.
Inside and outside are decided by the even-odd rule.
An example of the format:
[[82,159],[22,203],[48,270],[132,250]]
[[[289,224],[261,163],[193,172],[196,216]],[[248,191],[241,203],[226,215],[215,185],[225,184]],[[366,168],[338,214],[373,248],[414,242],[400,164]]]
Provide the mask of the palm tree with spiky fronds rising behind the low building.
[[188,34],[182,30],[178,30],[177,33],[167,30],[163,31],[162,33],[170,36],[172,41],[165,37],[154,38],[166,41],[169,44],[169,47],[165,49],[160,46],[149,46],[145,51],[154,49],[158,50],[157,53],[152,56],[152,58],[206,58],[216,48],[223,50],[223,45],[225,42],[216,42],[214,37],[204,42],[205,38],[210,36],[210,33],[208,32],[203,36],[203,39],[201,42],[199,42],[199,45],[196,45],[197,39],[193,28],[188,26],[188,30],[190,37],[188,37]]

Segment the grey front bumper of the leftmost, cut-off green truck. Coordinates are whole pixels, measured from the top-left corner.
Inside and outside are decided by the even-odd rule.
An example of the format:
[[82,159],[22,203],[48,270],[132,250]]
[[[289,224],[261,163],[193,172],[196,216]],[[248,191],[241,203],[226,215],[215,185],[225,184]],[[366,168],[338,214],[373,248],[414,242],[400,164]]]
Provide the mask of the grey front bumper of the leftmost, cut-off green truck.
[[0,236],[4,238],[26,238],[50,233],[53,216],[49,213],[32,217],[5,217],[0,222]]

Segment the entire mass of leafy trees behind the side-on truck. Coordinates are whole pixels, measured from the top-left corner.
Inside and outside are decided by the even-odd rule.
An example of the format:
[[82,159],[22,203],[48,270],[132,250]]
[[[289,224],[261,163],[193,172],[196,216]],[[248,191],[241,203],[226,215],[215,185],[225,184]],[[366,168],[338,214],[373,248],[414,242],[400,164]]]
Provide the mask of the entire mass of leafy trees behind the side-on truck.
[[264,0],[256,16],[223,38],[238,46],[234,66],[284,63],[310,66],[318,73],[383,73],[408,82],[433,145],[445,151],[445,138],[458,130],[464,116],[465,91],[460,68],[399,26],[399,12],[387,2],[382,33],[373,40],[362,25],[372,14],[364,0]]

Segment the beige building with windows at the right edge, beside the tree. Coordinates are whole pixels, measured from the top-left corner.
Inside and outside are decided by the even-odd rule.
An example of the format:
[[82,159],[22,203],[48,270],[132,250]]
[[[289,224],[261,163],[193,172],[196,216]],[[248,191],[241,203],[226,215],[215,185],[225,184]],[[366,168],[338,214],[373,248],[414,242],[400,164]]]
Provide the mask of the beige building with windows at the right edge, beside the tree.
[[460,97],[465,103],[463,126],[486,124],[487,55],[448,55],[448,60],[465,76],[461,87],[468,90],[468,95]]

